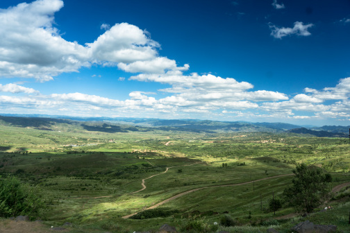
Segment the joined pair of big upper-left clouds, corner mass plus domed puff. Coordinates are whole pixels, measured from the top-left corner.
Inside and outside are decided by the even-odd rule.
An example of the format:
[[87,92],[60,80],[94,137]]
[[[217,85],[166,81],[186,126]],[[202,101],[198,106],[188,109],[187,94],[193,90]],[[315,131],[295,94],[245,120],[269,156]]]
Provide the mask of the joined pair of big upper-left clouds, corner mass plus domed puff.
[[[159,44],[137,26],[110,27],[85,45],[68,42],[53,26],[62,0],[37,0],[0,10],[0,78],[35,78],[41,82],[92,64],[119,67],[130,72],[163,72],[176,67],[174,60],[159,58]],[[120,64],[119,64],[120,63]]]

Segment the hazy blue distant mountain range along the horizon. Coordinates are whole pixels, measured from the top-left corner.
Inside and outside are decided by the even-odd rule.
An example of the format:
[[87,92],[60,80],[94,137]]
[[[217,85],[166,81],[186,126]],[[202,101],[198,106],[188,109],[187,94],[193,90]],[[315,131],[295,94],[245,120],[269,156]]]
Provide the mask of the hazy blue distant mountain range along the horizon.
[[289,123],[252,123],[247,121],[209,121],[197,119],[142,119],[127,117],[76,117],[56,115],[1,114],[0,125],[38,130],[76,130],[101,132],[129,132],[148,130],[174,130],[185,132],[290,132],[316,137],[349,137],[350,126],[322,126],[303,128]]

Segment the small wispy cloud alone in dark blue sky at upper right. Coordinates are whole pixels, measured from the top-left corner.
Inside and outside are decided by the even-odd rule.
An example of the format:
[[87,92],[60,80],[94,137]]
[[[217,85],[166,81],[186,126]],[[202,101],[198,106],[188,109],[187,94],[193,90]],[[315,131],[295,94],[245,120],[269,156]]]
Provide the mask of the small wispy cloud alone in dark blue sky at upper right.
[[296,21],[294,22],[293,28],[278,28],[273,24],[269,24],[269,28],[271,29],[271,35],[275,38],[282,39],[287,35],[300,35],[300,36],[309,36],[311,33],[308,31],[308,28],[314,26],[313,24],[304,25],[303,22]]

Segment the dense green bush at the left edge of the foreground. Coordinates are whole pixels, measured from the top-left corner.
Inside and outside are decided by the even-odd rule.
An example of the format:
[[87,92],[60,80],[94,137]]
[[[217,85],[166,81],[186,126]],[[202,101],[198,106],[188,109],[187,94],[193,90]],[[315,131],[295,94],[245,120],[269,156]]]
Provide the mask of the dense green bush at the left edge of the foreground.
[[38,195],[36,187],[22,184],[15,177],[8,177],[0,182],[0,217],[8,218],[28,215],[31,218],[39,216],[44,201]]

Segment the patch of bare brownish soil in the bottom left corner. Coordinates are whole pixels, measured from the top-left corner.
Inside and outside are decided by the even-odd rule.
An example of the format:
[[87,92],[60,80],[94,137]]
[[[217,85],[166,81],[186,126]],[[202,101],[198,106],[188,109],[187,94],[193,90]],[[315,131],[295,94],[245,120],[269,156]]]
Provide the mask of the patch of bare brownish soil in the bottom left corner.
[[[48,228],[46,225],[40,222],[26,222],[15,220],[1,220],[0,221],[1,233],[52,233],[56,232]],[[67,232],[67,230],[61,230],[59,232]]]

